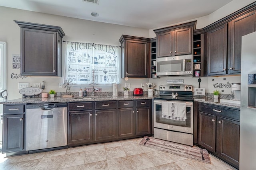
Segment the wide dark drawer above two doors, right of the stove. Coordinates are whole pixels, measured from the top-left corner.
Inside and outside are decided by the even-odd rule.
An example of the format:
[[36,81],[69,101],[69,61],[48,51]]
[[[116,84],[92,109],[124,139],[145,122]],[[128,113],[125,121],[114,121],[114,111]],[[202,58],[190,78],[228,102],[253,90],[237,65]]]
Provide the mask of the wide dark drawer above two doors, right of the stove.
[[210,113],[213,115],[220,115],[222,117],[227,117],[231,119],[236,119],[240,121],[240,111],[236,109],[220,107],[208,104],[199,104],[199,111],[204,113]]

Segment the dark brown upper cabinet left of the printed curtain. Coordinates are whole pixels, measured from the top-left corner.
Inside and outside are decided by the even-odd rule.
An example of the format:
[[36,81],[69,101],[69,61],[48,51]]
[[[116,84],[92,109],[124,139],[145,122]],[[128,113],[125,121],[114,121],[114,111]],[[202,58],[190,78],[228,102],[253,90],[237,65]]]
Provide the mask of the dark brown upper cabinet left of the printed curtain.
[[21,75],[62,76],[61,27],[15,21],[21,27]]

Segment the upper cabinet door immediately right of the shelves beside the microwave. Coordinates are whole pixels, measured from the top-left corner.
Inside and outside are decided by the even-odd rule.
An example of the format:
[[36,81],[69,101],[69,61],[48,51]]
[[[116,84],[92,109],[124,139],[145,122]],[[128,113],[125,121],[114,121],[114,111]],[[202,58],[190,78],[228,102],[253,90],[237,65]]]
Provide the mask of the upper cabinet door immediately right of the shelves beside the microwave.
[[208,75],[227,73],[227,24],[207,33]]

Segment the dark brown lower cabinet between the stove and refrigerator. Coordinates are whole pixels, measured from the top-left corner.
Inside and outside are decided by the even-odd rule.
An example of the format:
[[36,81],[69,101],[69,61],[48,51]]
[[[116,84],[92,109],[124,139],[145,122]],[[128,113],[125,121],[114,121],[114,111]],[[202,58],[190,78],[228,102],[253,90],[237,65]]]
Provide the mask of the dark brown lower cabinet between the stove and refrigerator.
[[239,169],[240,110],[199,103],[198,144]]

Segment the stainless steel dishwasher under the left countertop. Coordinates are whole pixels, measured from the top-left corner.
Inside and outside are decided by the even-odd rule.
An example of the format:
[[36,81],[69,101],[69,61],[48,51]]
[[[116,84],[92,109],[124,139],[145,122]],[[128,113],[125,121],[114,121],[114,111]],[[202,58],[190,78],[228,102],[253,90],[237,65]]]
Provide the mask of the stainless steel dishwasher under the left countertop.
[[26,150],[67,145],[67,104],[26,105]]

